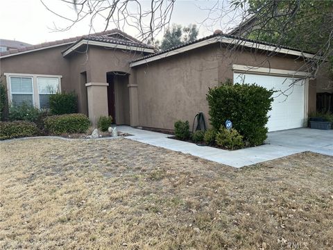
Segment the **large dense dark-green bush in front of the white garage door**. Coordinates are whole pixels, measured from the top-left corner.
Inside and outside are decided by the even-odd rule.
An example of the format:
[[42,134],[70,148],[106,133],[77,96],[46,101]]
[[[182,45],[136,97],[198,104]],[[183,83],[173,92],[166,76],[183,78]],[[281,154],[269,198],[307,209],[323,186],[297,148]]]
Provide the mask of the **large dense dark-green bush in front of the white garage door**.
[[271,110],[272,94],[273,90],[249,84],[210,88],[207,93],[210,122],[219,129],[230,119],[250,146],[263,144],[267,138],[267,113]]

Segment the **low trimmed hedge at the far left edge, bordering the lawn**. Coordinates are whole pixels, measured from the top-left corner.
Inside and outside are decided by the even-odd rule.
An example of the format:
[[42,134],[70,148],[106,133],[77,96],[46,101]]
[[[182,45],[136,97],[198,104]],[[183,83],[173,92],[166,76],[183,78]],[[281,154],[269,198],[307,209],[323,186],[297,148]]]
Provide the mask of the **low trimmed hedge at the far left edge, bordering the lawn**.
[[33,136],[37,133],[38,128],[33,122],[0,122],[0,140]]

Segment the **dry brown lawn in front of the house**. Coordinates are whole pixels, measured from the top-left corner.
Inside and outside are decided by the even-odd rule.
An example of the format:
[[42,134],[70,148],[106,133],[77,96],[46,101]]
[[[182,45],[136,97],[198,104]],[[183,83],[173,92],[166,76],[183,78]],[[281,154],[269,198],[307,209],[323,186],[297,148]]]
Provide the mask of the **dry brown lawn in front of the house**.
[[333,158],[244,169],[117,140],[1,142],[2,249],[332,249]]

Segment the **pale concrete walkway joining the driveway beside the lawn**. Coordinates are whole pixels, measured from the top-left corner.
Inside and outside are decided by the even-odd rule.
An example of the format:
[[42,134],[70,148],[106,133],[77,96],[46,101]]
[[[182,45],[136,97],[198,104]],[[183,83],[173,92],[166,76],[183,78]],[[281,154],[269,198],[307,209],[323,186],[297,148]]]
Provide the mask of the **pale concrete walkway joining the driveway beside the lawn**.
[[117,126],[118,131],[130,133],[126,138],[173,151],[189,153],[216,163],[232,167],[244,167],[266,160],[289,156],[302,151],[314,151],[333,156],[333,131],[296,128],[268,133],[267,144],[248,149],[227,151],[213,147],[197,146],[194,143],[169,139],[171,135],[145,131],[130,126]]

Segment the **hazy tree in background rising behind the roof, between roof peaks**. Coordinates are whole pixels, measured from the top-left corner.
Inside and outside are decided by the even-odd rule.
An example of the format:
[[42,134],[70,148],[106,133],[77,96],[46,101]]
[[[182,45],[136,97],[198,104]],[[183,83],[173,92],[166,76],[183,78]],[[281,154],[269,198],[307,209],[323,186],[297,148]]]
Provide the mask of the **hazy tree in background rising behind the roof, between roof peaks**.
[[192,42],[196,40],[199,30],[196,24],[189,24],[189,26],[182,27],[181,25],[173,24],[167,28],[161,42],[155,45],[162,50],[171,49],[172,47],[179,46],[185,42]]

